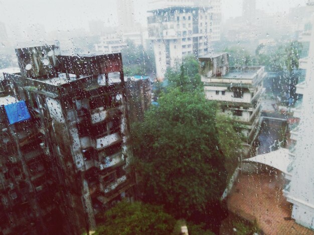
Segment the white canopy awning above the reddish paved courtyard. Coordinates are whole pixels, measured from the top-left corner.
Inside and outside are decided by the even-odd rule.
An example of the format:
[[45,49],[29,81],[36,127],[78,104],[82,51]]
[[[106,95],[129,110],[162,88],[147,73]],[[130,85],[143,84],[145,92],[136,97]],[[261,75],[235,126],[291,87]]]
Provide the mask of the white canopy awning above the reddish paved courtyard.
[[289,149],[279,148],[278,150],[275,150],[275,151],[271,151],[265,154],[259,154],[251,158],[243,159],[242,162],[243,161],[266,164],[288,174],[287,169],[292,159],[289,156]]

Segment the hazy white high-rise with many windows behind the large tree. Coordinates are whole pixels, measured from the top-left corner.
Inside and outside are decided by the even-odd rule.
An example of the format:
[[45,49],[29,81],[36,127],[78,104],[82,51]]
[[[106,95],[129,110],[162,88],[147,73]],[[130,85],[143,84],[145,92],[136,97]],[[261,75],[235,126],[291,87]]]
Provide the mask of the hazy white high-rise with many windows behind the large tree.
[[211,42],[220,39],[220,1],[213,4],[206,0],[150,1],[148,39],[154,49],[158,78],[185,55],[207,54]]

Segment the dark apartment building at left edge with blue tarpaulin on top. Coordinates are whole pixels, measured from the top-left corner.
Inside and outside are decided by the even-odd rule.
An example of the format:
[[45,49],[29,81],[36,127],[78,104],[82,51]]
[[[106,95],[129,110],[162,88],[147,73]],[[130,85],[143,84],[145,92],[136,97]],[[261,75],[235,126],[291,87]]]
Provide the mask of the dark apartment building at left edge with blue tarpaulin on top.
[[8,80],[0,80],[0,130],[0,233],[60,233],[55,159],[39,116],[15,97]]

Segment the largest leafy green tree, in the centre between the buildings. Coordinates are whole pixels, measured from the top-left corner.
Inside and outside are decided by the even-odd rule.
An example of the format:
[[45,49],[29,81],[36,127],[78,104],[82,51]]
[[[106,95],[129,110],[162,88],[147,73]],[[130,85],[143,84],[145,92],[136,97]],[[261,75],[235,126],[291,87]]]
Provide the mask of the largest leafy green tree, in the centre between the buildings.
[[146,111],[143,122],[132,125],[145,201],[186,217],[206,213],[220,198],[226,174],[215,113],[216,103],[203,92],[176,88]]

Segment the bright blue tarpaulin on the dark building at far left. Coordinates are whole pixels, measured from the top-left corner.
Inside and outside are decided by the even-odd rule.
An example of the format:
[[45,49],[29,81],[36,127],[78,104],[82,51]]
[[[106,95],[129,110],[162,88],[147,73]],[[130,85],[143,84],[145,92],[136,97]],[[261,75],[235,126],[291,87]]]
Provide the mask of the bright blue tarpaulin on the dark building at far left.
[[24,100],[5,105],[7,116],[10,124],[14,124],[19,121],[28,120],[31,118],[29,110],[26,107]]

